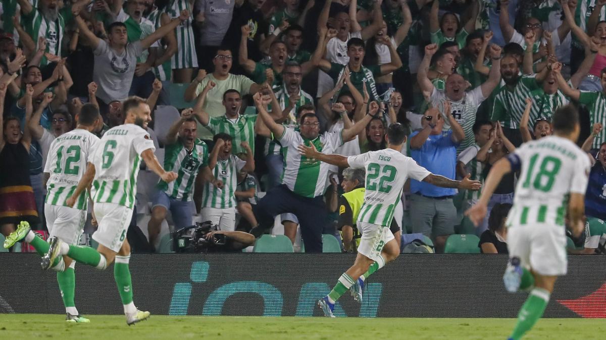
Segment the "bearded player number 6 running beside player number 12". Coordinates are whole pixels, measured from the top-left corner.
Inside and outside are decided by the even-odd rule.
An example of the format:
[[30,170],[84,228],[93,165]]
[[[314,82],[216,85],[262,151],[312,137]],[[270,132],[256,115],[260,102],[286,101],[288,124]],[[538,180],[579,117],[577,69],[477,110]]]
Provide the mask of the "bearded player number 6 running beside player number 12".
[[[99,227],[93,240],[99,243],[92,247],[67,244],[59,238],[48,240],[50,247],[42,258],[42,267],[50,267],[55,258],[67,255],[74,260],[103,270],[116,259],[114,277],[124,305],[127,324],[147,319],[149,312],[142,312],[133,303],[133,289],[128,270],[130,245],[126,232],[135,205],[136,178],[141,159],[145,165],[163,181],[170,183],[177,178],[175,172],[164,171],[154,155],[154,145],[147,133],[151,122],[150,107],[144,99],[128,97],[124,101],[124,125],[109,129],[93,151],[92,159],[72,196],[68,206],[76,203],[79,195],[92,184],[93,212]],[[94,179],[94,180],[93,180]]]

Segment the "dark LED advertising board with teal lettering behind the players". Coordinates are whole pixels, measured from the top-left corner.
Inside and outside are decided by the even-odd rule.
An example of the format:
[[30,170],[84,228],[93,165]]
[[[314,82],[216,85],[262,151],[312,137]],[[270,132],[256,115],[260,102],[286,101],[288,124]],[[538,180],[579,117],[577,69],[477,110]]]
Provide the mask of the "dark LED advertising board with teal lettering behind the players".
[[[351,254],[134,254],[135,304],[156,315],[319,316],[316,301],[352,263]],[[602,256],[571,256],[546,317],[606,317]],[[1,313],[64,313],[55,272],[35,254],[0,254]],[[514,318],[526,298],[502,284],[503,255],[402,254],[370,276],[362,304],[349,293],[338,316]],[[76,265],[83,315],[120,314],[111,268]]]

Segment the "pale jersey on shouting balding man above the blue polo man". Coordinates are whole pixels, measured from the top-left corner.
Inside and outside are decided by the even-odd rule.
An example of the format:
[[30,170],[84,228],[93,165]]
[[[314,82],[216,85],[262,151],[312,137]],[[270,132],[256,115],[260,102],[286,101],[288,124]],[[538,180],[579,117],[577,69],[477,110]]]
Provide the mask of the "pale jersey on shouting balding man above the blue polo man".
[[[440,112],[444,112],[444,103],[446,100],[450,101],[450,110],[453,118],[461,124],[463,131],[465,132],[465,139],[462,140],[461,144],[456,149],[457,154],[467,149],[469,146],[475,143],[473,136],[473,125],[476,123],[476,113],[478,113],[478,107],[486,98],[482,94],[482,87],[476,87],[471,91],[465,92],[463,98],[458,102],[454,102],[446,97],[446,93],[443,90],[437,90],[433,88],[431,93],[431,105],[438,108]],[[450,123],[446,117],[444,118],[444,131],[450,130]]]

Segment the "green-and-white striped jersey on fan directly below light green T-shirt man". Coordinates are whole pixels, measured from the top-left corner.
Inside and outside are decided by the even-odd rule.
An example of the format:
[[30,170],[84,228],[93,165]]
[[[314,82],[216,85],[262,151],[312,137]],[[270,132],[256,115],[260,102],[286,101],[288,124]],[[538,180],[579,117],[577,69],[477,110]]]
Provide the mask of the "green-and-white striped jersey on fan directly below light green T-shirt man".
[[231,153],[245,154],[246,150],[240,143],[248,142],[250,149],[255,153],[255,123],[259,116],[256,114],[239,114],[236,119],[228,119],[225,115],[210,117],[206,126],[213,134],[226,133],[233,139]]

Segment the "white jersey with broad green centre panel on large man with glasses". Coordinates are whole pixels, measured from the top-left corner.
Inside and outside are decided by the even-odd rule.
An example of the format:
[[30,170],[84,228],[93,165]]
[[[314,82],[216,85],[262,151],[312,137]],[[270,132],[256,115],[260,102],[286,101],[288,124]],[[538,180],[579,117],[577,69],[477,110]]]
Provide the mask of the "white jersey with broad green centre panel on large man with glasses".
[[313,198],[324,195],[330,165],[319,160],[308,159],[299,153],[297,147],[301,144],[307,146],[313,144],[319,152],[333,154],[339,146],[343,145],[342,133],[342,130],[324,132],[316,139],[309,140],[303,138],[294,129],[284,128],[284,133],[278,138],[284,155],[282,184],[303,197]]

